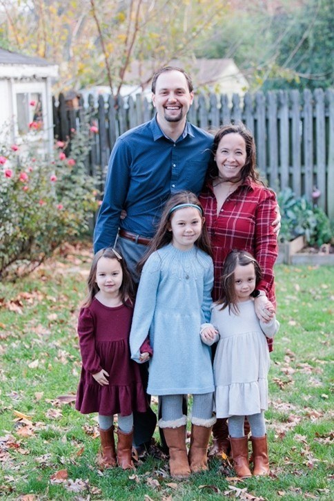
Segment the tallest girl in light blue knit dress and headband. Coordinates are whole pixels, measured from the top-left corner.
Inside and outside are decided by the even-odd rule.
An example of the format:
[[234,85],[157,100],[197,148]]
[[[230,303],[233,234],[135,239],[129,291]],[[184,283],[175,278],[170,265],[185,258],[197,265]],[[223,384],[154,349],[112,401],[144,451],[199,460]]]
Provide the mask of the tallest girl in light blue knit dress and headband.
[[[189,191],[172,196],[152,240],[135,303],[130,332],[132,359],[149,358],[148,393],[161,397],[159,426],[170,452],[170,475],[186,478],[208,469],[206,451],[213,417],[210,348],[199,330],[210,318],[213,261],[202,206]],[[182,398],[193,395],[190,451]]]

